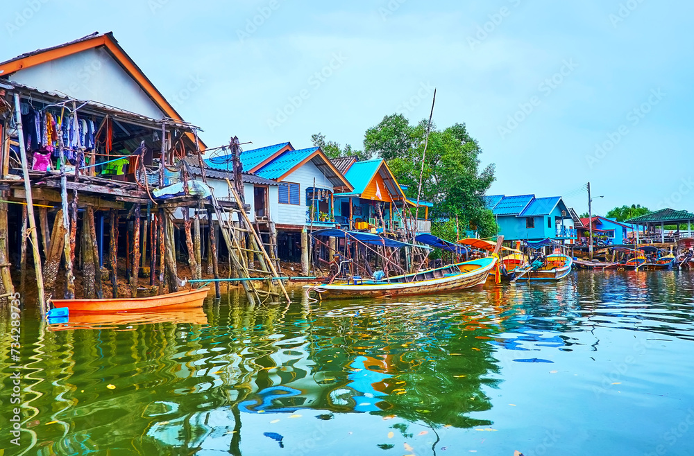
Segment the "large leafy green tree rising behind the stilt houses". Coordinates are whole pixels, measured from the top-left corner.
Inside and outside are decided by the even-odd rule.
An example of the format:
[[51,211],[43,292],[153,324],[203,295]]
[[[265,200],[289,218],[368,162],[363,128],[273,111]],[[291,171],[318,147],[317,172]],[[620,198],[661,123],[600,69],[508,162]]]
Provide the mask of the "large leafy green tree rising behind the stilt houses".
[[[434,203],[430,218],[455,220],[461,229],[477,227],[482,237],[497,234],[496,222],[484,204],[484,195],[494,182],[494,165],[480,170],[482,149],[468,134],[464,123],[445,130],[432,125],[424,166],[427,121],[409,125],[402,114],[385,116],[364,135],[364,150],[385,159],[400,184],[409,186],[407,197]],[[421,209],[423,211],[423,209]]]

